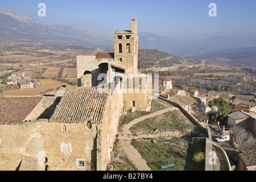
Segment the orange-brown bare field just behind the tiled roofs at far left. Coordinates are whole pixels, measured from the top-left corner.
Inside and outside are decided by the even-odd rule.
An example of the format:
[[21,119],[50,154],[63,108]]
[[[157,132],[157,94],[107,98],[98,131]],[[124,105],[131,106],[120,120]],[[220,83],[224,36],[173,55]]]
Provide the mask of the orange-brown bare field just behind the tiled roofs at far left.
[[38,88],[33,89],[19,89],[19,90],[8,90],[2,93],[2,96],[37,96],[38,94],[56,90],[59,86],[66,85],[68,88],[74,86],[69,85],[65,82],[57,80],[42,80],[41,85]]

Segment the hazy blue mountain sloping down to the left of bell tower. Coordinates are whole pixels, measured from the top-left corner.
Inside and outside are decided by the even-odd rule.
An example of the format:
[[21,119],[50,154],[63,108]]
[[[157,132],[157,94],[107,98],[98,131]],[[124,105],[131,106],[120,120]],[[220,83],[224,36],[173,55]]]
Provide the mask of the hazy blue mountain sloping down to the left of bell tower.
[[0,38],[73,46],[112,47],[108,40],[96,39],[76,27],[45,25],[20,13],[0,8]]

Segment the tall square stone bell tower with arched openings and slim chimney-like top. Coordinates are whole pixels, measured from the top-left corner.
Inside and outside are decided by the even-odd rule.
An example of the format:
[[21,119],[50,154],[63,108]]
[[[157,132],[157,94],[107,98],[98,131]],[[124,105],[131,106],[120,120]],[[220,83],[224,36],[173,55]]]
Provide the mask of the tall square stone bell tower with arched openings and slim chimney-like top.
[[118,30],[114,34],[114,61],[130,64],[138,73],[137,20],[131,20],[131,30]]

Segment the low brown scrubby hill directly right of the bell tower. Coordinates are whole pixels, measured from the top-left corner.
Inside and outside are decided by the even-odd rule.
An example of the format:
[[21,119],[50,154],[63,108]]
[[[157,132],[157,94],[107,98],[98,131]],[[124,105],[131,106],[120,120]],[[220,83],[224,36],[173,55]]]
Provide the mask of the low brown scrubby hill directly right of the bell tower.
[[139,49],[138,68],[171,67],[181,63],[177,57],[157,49]]

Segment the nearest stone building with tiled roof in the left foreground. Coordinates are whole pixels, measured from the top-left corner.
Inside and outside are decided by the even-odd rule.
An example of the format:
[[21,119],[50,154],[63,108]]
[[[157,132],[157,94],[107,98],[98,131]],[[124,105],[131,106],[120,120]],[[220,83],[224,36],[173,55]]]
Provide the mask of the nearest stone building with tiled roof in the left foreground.
[[[115,86],[121,87],[118,83]],[[34,105],[23,117],[32,114],[31,120],[10,123],[6,118],[1,122],[0,170],[105,170],[122,110],[120,92],[67,89],[49,119],[38,118],[44,113],[39,108],[39,113],[31,113],[43,106],[40,100],[44,99],[33,98],[30,102]],[[26,110],[18,107],[18,113]]]

